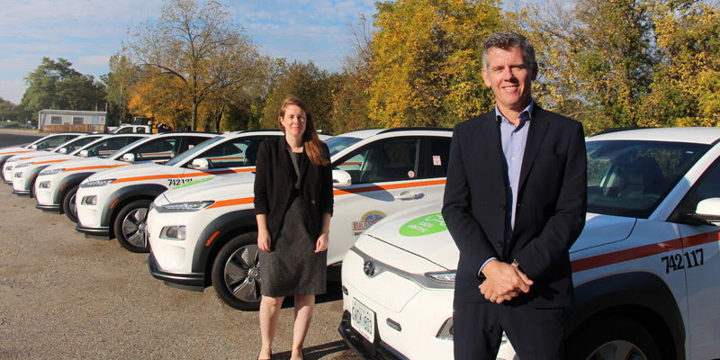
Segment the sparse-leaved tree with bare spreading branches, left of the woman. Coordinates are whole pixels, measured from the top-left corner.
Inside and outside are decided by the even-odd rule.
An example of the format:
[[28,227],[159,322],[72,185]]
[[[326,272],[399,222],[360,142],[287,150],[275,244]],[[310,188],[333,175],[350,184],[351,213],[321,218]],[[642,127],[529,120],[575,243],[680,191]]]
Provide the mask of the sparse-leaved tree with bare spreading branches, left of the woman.
[[203,101],[257,72],[257,47],[215,1],[166,0],[157,23],[129,31],[125,50],[137,63],[175,76],[188,102],[193,130]]

